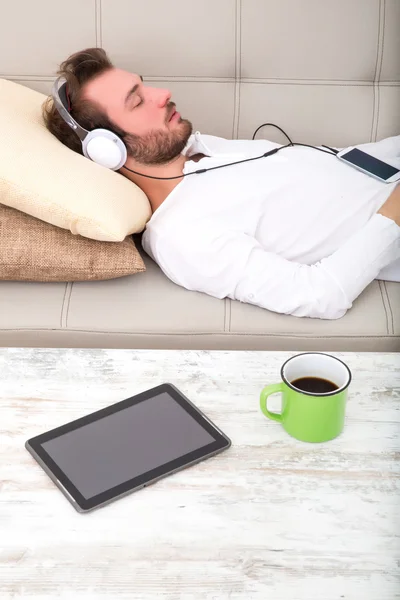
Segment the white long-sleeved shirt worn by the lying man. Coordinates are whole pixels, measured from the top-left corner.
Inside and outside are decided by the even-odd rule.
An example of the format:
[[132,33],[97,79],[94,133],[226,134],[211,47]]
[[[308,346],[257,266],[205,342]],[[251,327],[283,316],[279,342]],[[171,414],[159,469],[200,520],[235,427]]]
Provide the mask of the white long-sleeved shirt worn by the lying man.
[[[196,132],[183,154],[207,156],[187,161],[183,173],[279,146]],[[358,147],[400,162],[400,136]],[[147,223],[142,244],[167,277],[189,290],[336,319],[396,260],[390,278],[400,281],[400,227],[376,214],[395,185],[333,155],[285,148],[183,178]]]

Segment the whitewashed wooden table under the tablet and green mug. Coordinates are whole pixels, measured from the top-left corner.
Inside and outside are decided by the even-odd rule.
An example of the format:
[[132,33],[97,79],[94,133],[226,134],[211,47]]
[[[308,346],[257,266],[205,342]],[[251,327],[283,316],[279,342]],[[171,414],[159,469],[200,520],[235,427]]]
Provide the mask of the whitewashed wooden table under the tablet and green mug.
[[[400,598],[400,355],[335,353],[345,430],[312,445],[259,410],[293,354],[0,349],[1,600]],[[77,513],[25,440],[163,382],[232,448]]]

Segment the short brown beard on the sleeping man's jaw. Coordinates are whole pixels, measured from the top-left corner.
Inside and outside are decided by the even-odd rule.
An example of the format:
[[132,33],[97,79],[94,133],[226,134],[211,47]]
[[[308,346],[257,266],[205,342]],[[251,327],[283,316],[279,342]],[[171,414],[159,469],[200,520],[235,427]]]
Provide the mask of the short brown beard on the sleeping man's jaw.
[[143,165],[162,165],[182,153],[192,131],[191,122],[182,119],[172,131],[150,131],[144,136],[128,134],[124,142],[129,157]]

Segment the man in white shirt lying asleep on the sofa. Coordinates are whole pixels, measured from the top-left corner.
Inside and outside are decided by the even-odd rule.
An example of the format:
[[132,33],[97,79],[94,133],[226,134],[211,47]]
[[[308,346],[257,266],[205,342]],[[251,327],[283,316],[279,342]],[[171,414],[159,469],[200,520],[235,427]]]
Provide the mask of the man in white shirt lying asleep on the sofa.
[[[193,134],[169,90],[116,68],[99,48],[69,57],[59,75],[71,117],[86,130],[112,131],[126,147],[118,170],[152,208],[143,248],[176,284],[278,313],[337,319],[374,279],[400,281],[396,183],[323,147]],[[82,153],[52,97],[44,116],[58,139]],[[400,166],[400,135],[358,147]]]

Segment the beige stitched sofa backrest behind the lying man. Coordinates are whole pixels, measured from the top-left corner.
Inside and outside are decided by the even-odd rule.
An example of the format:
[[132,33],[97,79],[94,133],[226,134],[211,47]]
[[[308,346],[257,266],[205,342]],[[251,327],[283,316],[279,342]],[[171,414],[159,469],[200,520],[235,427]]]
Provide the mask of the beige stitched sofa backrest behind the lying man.
[[[7,2],[0,77],[49,93],[71,53],[168,87],[194,129],[347,146],[400,129],[398,0],[54,0]],[[23,6],[23,9],[21,9]],[[258,138],[283,143],[273,128]]]

